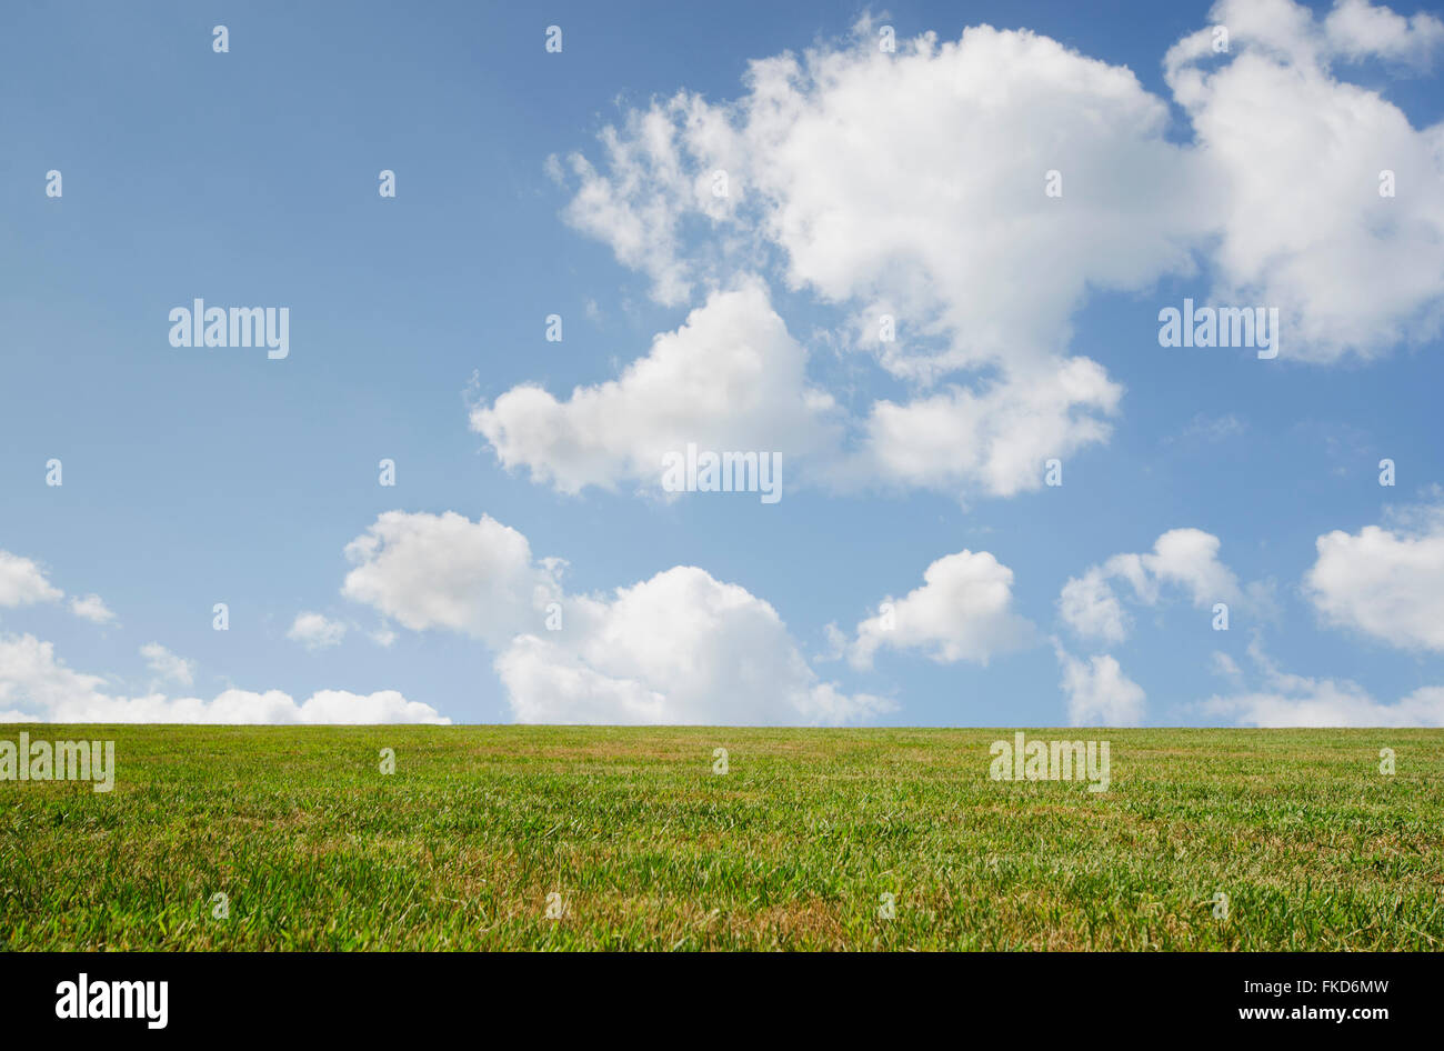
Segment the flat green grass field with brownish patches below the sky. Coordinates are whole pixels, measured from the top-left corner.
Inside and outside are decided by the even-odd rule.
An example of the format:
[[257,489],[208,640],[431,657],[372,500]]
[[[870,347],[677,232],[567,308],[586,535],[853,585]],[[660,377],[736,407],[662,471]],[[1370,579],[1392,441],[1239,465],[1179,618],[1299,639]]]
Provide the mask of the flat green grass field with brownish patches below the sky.
[[117,772],[0,782],[12,950],[1444,948],[1440,731],[22,729]]

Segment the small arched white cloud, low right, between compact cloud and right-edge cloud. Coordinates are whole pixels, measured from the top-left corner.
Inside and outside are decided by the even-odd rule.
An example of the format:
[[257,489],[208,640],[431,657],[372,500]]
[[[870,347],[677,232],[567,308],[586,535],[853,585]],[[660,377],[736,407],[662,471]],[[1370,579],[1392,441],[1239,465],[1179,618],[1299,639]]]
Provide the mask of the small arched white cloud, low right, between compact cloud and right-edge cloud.
[[1079,635],[1105,642],[1122,642],[1132,631],[1132,618],[1113,586],[1129,585],[1132,598],[1148,606],[1158,605],[1164,585],[1188,593],[1194,606],[1209,609],[1217,602],[1251,609],[1265,609],[1268,589],[1262,583],[1243,588],[1238,576],[1219,559],[1220,541],[1197,528],[1177,528],[1161,534],[1154,550],[1142,554],[1115,554],[1083,576],[1070,577],[1058,595],[1058,614]]

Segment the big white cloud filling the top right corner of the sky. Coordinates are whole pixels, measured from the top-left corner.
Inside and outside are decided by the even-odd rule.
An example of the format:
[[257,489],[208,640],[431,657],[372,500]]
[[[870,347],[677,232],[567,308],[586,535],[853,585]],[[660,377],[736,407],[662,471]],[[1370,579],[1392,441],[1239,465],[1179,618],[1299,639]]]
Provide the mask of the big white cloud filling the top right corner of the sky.
[[[1378,355],[1438,332],[1444,309],[1444,124],[1415,130],[1340,79],[1362,58],[1424,65],[1444,25],[1346,0],[1323,20],[1291,0],[1225,0],[1229,30],[1180,40],[1167,79],[1223,191],[1212,258],[1223,302],[1278,306],[1287,357]],[[1379,193],[1382,170],[1396,196]]]

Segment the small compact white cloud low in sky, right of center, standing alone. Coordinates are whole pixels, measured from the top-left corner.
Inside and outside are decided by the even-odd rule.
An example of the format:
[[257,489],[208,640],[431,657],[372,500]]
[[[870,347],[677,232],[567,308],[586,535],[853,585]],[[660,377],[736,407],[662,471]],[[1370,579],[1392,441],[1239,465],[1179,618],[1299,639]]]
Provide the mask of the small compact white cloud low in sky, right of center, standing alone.
[[923,573],[923,586],[905,598],[888,596],[875,616],[858,625],[849,661],[871,667],[882,647],[921,650],[934,661],[975,661],[1017,650],[1032,640],[1032,624],[1012,602],[1012,570],[988,551],[947,554]]

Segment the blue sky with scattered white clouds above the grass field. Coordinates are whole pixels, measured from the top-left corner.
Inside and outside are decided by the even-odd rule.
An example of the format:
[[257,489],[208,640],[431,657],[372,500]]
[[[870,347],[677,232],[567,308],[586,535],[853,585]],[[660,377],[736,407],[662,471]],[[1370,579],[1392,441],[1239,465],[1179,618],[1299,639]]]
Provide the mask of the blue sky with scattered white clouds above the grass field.
[[0,716],[1441,725],[1437,16],[7,4]]

